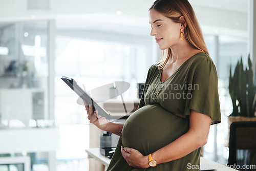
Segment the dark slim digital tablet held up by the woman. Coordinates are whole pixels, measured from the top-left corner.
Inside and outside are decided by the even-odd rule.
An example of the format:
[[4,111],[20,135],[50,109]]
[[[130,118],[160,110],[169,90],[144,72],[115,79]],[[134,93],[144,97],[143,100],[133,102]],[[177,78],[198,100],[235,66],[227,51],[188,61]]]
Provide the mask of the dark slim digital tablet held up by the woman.
[[84,92],[77,84],[73,78],[62,76],[61,78],[68,86],[79,96],[81,99],[86,100],[87,104],[93,106],[93,110],[99,111],[99,115],[105,117],[108,120],[114,120],[113,116],[106,112],[92,97],[90,97],[86,92]]

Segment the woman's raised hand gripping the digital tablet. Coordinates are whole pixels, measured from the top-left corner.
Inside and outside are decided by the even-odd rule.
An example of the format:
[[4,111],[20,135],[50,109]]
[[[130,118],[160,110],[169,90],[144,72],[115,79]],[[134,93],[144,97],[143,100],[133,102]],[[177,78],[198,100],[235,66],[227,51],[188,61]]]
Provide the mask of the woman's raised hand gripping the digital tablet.
[[106,126],[108,125],[109,121],[106,120],[105,117],[98,115],[97,110],[93,111],[93,106],[91,104],[88,105],[85,100],[83,100],[83,104],[86,106],[86,111],[87,111],[88,119],[90,120],[90,123],[93,123],[100,130],[106,131]]

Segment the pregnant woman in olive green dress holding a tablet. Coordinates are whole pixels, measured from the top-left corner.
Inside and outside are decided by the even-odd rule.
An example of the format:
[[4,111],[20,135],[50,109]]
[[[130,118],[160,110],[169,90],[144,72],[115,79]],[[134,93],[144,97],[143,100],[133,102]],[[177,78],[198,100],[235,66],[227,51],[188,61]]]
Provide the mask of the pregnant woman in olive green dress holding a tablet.
[[108,170],[199,170],[210,125],[221,122],[217,71],[187,0],[157,0],[149,17],[164,53],[148,70],[140,109],[122,124],[85,103],[88,119],[120,135]]

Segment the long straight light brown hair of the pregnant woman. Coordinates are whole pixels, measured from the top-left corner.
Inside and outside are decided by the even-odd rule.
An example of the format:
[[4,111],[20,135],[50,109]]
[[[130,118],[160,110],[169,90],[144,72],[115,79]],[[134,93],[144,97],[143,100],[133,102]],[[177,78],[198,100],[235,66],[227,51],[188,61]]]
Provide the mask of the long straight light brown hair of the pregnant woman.
[[[197,17],[187,0],[157,0],[151,9],[155,9],[176,23],[181,23],[180,17],[184,16],[187,23],[184,38],[192,47],[209,55]],[[162,60],[157,65],[158,69],[162,70],[170,58],[172,58],[172,50],[170,48],[163,50]]]

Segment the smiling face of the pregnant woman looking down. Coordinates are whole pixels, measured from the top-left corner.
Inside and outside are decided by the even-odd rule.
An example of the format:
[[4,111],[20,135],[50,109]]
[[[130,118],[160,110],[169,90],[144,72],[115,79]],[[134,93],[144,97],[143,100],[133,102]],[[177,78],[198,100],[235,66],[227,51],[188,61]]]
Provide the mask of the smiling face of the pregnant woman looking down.
[[150,10],[151,36],[155,36],[161,50],[171,48],[181,42],[181,24],[162,15],[155,9]]

